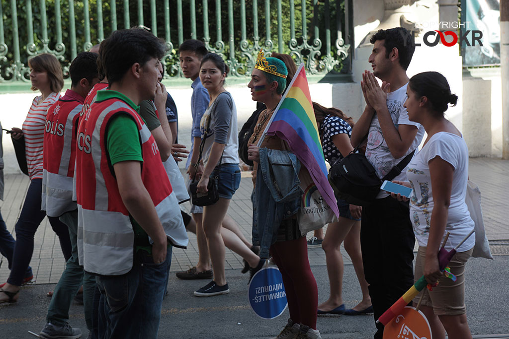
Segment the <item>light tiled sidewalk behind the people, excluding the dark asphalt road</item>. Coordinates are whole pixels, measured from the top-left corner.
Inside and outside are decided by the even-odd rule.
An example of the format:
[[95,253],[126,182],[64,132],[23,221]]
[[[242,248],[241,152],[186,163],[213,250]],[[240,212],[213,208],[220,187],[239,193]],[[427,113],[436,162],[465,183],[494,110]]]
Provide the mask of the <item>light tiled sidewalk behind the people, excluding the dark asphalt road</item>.
[[[470,179],[478,184],[483,195],[486,233],[488,239],[493,240],[492,250],[494,253],[508,254],[509,161],[489,158],[470,159],[469,175]],[[14,225],[20,213],[28,184],[29,178],[22,174],[11,174],[5,177],[5,200],[0,204],[0,208],[13,236],[15,236]],[[251,190],[250,172],[242,172],[240,188],[235,193],[228,210],[228,214],[237,222],[247,239],[251,238]],[[188,209],[189,204],[183,204],[182,207]],[[187,269],[197,262],[196,236],[191,233],[188,235],[187,250],[174,249],[173,251],[172,271]],[[345,264],[350,264],[350,257],[346,255],[345,251],[343,253]],[[309,263],[312,266],[325,265],[325,254],[320,248],[309,249],[308,255]],[[65,268],[60,243],[47,218],[44,219],[35,235],[34,255],[30,264],[34,269],[36,284],[57,283]],[[225,268],[240,269],[242,267],[242,258],[227,249]],[[5,282],[8,276],[9,269],[6,260],[4,260],[0,267],[0,282]]]

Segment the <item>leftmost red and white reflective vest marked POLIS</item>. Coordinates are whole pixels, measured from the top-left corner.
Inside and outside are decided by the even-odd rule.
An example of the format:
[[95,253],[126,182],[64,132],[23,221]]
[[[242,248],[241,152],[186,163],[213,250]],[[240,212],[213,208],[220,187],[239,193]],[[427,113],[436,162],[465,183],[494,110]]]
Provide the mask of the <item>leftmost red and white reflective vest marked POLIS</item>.
[[68,89],[48,109],[44,126],[42,205],[49,217],[76,209],[72,200],[76,130],[83,97]]

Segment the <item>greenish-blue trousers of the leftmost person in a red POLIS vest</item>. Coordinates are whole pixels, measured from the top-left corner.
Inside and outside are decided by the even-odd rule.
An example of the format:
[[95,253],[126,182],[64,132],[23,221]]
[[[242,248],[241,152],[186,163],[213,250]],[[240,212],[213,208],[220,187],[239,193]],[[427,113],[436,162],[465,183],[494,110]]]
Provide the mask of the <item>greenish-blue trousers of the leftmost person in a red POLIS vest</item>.
[[61,215],[60,220],[69,228],[71,238],[72,255],[67,260],[67,265],[60,277],[59,283],[53,290],[53,298],[48,307],[46,322],[63,326],[69,321],[69,307],[79,287],[83,285],[83,307],[87,328],[92,330],[92,303],[95,289],[95,276],[84,272],[83,266],[78,262],[78,211],[73,210]]

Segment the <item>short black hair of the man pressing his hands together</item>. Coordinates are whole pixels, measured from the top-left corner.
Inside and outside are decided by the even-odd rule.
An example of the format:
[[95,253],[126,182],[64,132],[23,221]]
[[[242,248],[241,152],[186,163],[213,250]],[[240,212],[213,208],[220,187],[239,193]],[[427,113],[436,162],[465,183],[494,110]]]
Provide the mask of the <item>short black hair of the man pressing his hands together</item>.
[[384,40],[386,58],[389,57],[392,48],[395,47],[398,49],[400,65],[406,71],[412,60],[413,52],[415,51],[413,35],[403,27],[379,29],[378,32],[371,37],[370,42],[374,44],[377,40]]

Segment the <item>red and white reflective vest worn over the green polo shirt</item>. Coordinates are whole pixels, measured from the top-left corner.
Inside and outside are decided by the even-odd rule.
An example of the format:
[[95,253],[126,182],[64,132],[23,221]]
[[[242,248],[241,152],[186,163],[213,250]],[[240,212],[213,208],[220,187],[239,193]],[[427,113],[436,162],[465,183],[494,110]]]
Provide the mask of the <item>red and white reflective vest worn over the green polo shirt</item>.
[[143,155],[140,175],[168,240],[180,248],[185,248],[188,242],[177,198],[154,137],[143,119],[122,99],[109,96],[101,101],[98,96],[79,124],[76,195],[80,264],[86,271],[102,275],[129,272],[134,257],[134,231],[129,212],[106,154],[105,131],[117,114],[130,115],[138,127]]

